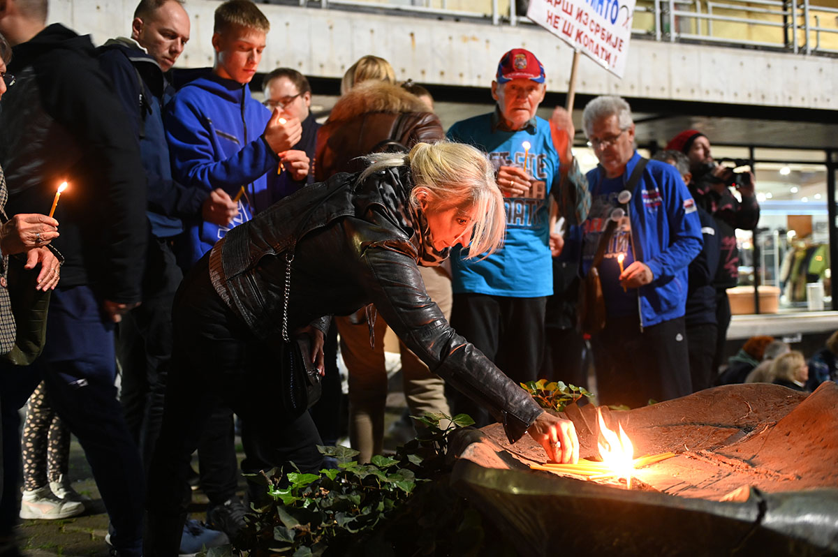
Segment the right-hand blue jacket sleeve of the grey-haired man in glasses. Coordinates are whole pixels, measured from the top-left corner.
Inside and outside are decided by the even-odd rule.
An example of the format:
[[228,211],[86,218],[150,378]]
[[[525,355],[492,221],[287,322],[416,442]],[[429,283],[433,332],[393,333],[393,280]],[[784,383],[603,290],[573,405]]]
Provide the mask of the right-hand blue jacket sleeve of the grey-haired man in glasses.
[[[701,221],[696,202],[678,175],[675,167],[660,167],[660,190],[664,196],[664,209],[669,224],[670,242],[658,255],[645,261],[655,279],[675,276],[690,265],[701,251]],[[649,173],[649,168],[644,170]]]

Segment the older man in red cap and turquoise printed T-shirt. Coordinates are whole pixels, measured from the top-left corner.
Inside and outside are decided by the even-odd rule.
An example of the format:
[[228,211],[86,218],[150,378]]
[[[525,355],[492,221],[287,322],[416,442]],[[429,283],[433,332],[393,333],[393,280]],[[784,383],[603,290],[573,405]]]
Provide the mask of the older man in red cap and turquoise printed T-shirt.
[[[458,121],[447,133],[489,153],[508,198],[503,250],[484,260],[452,254],[452,324],[516,381],[535,379],[544,352],[546,299],[553,293],[548,196],[570,224],[582,222],[590,206],[571,152],[570,114],[556,108],[551,121],[535,116],[545,93],[544,66],[529,50],[512,49],[492,82],[494,111]],[[453,403],[455,414],[488,423],[468,400]]]

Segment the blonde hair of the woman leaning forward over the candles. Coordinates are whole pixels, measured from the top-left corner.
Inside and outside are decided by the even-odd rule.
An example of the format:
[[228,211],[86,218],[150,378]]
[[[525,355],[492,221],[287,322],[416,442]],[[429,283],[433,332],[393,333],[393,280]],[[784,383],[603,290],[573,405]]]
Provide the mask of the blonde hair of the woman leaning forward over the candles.
[[410,204],[421,206],[417,195],[424,193],[433,211],[473,209],[474,229],[468,245],[468,259],[489,255],[504,244],[506,213],[504,198],[494,181],[489,158],[478,149],[454,142],[416,143],[409,153],[373,153],[370,166],[361,173],[409,165],[413,175]]

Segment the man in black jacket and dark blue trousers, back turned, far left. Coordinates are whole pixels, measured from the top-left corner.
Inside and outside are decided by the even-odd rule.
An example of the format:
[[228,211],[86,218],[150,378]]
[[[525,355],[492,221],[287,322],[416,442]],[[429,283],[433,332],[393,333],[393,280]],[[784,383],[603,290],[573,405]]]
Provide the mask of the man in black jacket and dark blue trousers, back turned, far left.
[[[20,454],[19,438],[16,447],[7,439],[8,420],[17,420],[7,412],[21,407],[43,380],[50,405],[85,450],[111,520],[114,551],[134,556],[142,554],[145,488],[139,451],[116,399],[114,327],[142,300],[146,175],[91,39],[59,23],[48,26],[47,8],[47,0],[0,6],[0,33],[14,50],[8,72],[17,78],[0,112],[6,209],[47,219],[56,189],[69,184],[54,214],[61,234],[50,245],[65,263],[49,298],[44,349],[25,368],[0,369],[3,457],[15,462]],[[9,438],[15,437],[13,430]],[[20,510],[12,473],[4,478],[0,536],[11,534]]]

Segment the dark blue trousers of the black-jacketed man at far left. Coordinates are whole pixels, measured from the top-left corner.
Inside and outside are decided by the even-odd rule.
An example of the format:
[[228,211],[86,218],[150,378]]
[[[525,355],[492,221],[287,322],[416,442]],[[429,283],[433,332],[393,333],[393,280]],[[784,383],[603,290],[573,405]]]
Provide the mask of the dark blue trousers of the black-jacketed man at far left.
[[[79,439],[111,519],[111,542],[120,554],[139,555],[145,491],[142,462],[116,400],[113,324],[101,317],[88,286],[56,289],[49,303],[44,353],[28,368],[0,369],[3,406],[3,456],[18,462],[18,420],[12,414],[25,404],[43,378],[61,420]],[[12,423],[14,422],[14,423]],[[17,448],[14,448],[15,443]],[[14,482],[8,476],[14,472]],[[3,530],[18,513],[17,467],[5,466]]]

